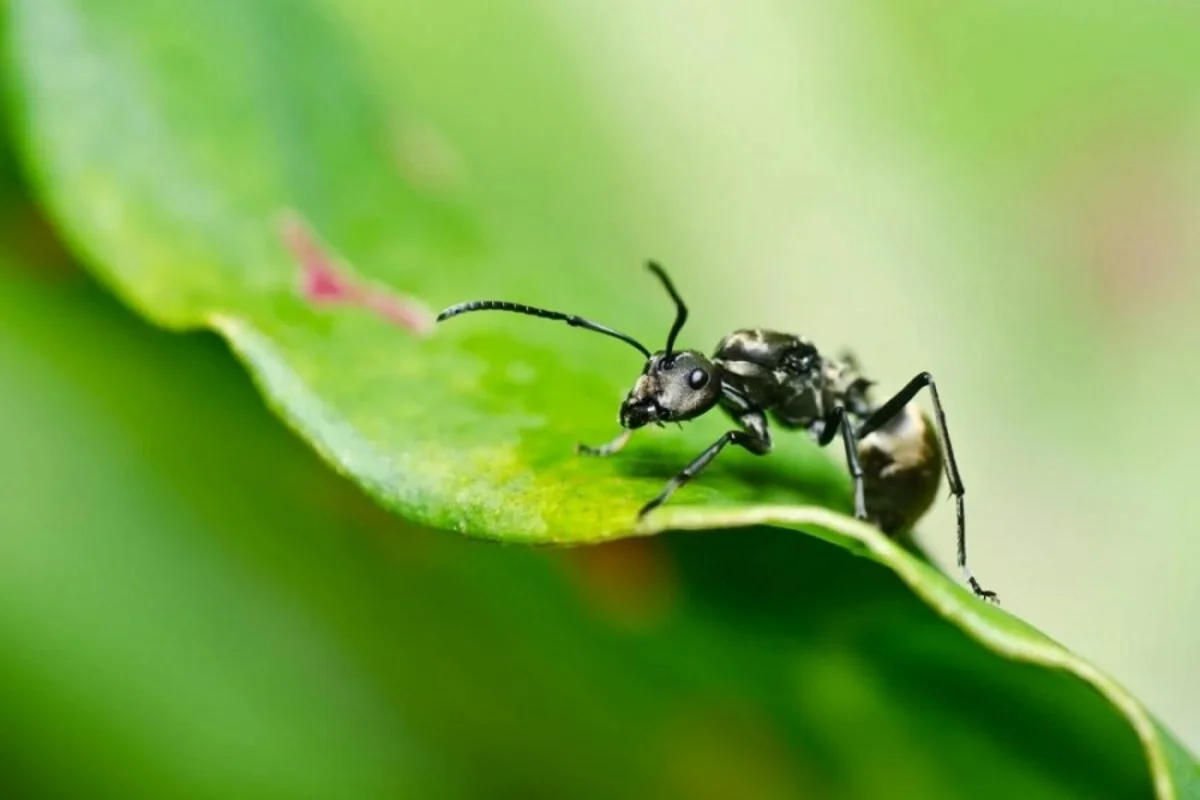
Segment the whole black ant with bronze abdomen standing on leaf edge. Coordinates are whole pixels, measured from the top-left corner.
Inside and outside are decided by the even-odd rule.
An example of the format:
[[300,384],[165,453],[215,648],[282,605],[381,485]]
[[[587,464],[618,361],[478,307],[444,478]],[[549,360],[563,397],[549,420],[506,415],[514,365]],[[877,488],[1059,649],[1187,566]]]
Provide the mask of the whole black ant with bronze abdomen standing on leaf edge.
[[[638,516],[666,503],[730,445],[766,456],[772,447],[768,419],[782,428],[806,431],[822,447],[840,437],[853,481],[854,516],[889,535],[908,530],[929,510],[944,467],[958,512],[959,569],[976,595],[996,600],[996,594],[980,587],[967,567],[965,492],[932,375],[919,373],[876,405],[870,398],[874,381],[862,374],[852,355],[823,355],[803,336],[737,330],[718,343],[712,356],[677,350],[676,338],[688,321],[688,306],[661,266],[649,261],[647,267],[676,306],[666,347],[658,353],[650,353],[628,333],[582,317],[500,300],[451,306],[438,314],[438,321],[474,311],[508,311],[604,333],[646,356],[642,374],[620,404],[620,434],[599,446],[577,445],[581,455],[612,456],[636,429],[649,423],[684,422],[714,408],[725,411],[738,427],[667,481]],[[914,402],[923,389],[929,389],[932,399],[932,420]]]

